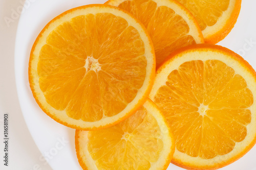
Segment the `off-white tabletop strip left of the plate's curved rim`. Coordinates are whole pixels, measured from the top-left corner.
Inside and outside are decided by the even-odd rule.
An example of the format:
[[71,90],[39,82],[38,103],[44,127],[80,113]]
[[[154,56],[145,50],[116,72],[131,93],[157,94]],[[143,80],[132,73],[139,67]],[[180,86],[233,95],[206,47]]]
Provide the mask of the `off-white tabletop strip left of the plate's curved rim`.
[[[0,169],[34,170],[41,154],[33,141],[19,107],[14,77],[14,45],[18,18],[6,24],[4,17],[10,17],[12,9],[22,6],[20,0],[0,0]],[[3,117],[9,113],[9,166],[3,165]],[[51,170],[48,164],[41,169]]]

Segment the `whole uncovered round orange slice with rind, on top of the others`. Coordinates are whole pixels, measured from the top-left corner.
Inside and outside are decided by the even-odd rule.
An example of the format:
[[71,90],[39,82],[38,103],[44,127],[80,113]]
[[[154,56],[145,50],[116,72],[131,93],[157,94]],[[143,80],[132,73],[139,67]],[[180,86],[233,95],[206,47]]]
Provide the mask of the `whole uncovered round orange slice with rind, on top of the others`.
[[112,126],[140,108],[155,78],[154,47],[129,13],[108,5],[66,11],[40,32],[29,82],[50,117],[71,128]]

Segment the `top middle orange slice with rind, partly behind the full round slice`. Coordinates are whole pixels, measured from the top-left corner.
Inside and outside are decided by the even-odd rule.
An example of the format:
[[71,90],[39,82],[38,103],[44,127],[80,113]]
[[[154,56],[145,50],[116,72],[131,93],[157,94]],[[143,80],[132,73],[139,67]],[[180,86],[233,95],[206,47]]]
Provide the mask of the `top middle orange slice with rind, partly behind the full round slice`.
[[195,18],[175,1],[110,0],[106,4],[130,12],[143,23],[154,43],[157,65],[180,47],[204,42]]

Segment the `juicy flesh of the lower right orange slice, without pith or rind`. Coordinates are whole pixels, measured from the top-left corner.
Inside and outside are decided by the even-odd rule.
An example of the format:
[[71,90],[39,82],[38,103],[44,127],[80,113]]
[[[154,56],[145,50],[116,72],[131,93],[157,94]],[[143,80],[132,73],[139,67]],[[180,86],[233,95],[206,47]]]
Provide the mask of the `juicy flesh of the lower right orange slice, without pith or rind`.
[[229,153],[235,142],[244,140],[251,122],[246,109],[253,103],[250,89],[219,60],[183,63],[168,75],[154,101],[169,125],[176,127],[176,148],[193,157],[209,159]]

